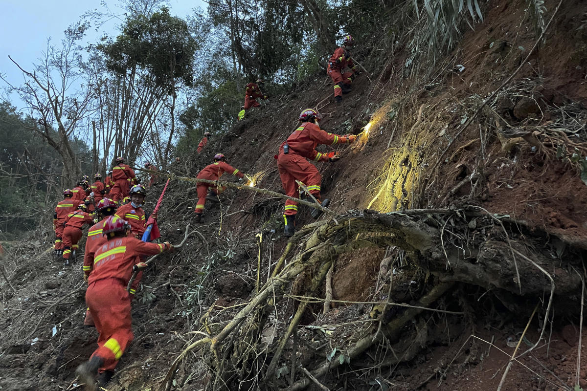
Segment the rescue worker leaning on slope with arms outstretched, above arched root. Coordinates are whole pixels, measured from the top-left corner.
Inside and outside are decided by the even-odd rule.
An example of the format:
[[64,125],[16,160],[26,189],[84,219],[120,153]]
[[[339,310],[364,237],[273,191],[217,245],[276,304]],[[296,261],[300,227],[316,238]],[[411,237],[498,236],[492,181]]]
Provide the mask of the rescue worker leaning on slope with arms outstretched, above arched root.
[[[355,142],[355,135],[340,136],[338,134],[327,133],[320,129],[318,122],[322,120],[322,115],[313,108],[306,108],[300,113],[298,121],[302,124],[291,134],[288,139],[282,142],[279,147],[277,158],[277,168],[281,183],[284,186],[285,194],[290,197],[298,196],[298,183],[296,179],[302,182],[311,195],[321,203],[322,206],[328,205],[328,199],[321,202],[320,185],[322,178],[318,169],[306,159],[312,159],[315,162],[335,162],[340,159],[338,152],[328,152],[322,154],[316,151],[318,144],[346,144]],[[291,200],[285,201],[285,236],[291,237],[295,233],[295,215],[298,213],[298,203]],[[322,212],[318,209],[312,209],[312,217],[318,218]]]

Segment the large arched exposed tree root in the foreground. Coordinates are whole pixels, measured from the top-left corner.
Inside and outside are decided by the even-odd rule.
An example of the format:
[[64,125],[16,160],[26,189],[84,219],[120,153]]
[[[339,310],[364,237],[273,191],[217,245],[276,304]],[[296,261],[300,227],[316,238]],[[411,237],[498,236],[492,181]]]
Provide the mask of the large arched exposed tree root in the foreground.
[[[483,220],[483,232],[475,229],[477,220]],[[487,227],[493,228],[487,230]],[[385,310],[380,314],[380,322],[365,322],[355,333],[359,338],[350,342],[344,351],[332,353],[328,360],[324,358],[315,363],[312,367],[315,369],[309,373],[321,379],[321,382],[323,376],[333,368],[346,363],[353,365],[354,360],[360,361],[359,357],[370,346],[397,339],[404,325],[429,308],[457,281],[498,291],[505,296],[519,296],[520,287],[522,294],[529,298],[548,292],[551,295],[549,307],[556,297],[563,298],[565,302],[579,300],[582,286],[580,276],[569,273],[562,265],[552,270],[552,260],[542,255],[545,251],[533,251],[528,246],[522,246],[517,241],[521,235],[525,236],[527,243],[532,243],[528,239],[535,237],[535,246],[545,245],[543,232],[531,232],[515,221],[499,220],[474,207],[458,210],[404,210],[386,214],[370,210],[352,211],[336,219],[302,227],[290,239],[271,277],[259,287],[258,293],[215,336],[206,334],[205,338],[188,346],[174,361],[160,390],[170,389],[178,363],[186,353],[205,344],[210,344],[211,368],[215,372],[212,389],[235,389],[238,382],[241,385],[252,385],[261,376],[251,377],[251,373],[264,373],[262,382],[268,389],[279,388],[280,384],[283,386],[282,380],[278,380],[277,369],[291,368],[293,365],[288,361],[294,359],[288,359],[284,352],[289,351],[288,344],[295,343],[290,337],[295,335],[311,296],[324,283],[336,257],[362,247],[399,247],[406,251],[412,268],[423,270],[421,276],[435,277],[426,277],[423,290],[419,292],[419,300],[411,303],[415,305],[398,309],[400,307],[394,305],[383,305],[393,298],[382,301],[380,304]],[[284,267],[285,260],[295,249],[299,249],[298,253]],[[518,262],[515,256],[519,257]],[[569,256],[568,259],[571,264],[578,257]],[[576,267],[579,267],[579,263]],[[550,274],[546,273],[546,269],[551,271]],[[281,338],[274,344],[261,344],[262,332],[269,315],[276,308],[276,302],[291,297],[286,294],[286,288],[302,273],[311,276],[306,296],[300,299],[297,311],[287,322]],[[395,312],[391,308],[396,308]],[[291,350],[295,351],[295,346]],[[407,359],[417,351],[406,354]],[[318,354],[327,355],[328,352]],[[395,362],[400,361],[402,359]],[[303,361],[300,364],[310,368]],[[297,379],[291,376],[287,390],[301,390],[311,382],[311,377],[303,370],[298,371]]]

